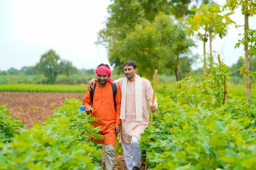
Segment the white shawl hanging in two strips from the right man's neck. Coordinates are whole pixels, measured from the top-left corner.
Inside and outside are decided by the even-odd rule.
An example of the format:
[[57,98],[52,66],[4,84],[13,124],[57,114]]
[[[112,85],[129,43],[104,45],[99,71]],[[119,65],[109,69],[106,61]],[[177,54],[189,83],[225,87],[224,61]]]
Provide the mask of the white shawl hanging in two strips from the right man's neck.
[[[126,113],[126,88],[127,88],[128,79],[124,79],[121,86],[121,113],[120,119],[125,120]],[[142,86],[139,75],[135,77],[135,109],[136,109],[136,120],[141,121],[142,119]]]

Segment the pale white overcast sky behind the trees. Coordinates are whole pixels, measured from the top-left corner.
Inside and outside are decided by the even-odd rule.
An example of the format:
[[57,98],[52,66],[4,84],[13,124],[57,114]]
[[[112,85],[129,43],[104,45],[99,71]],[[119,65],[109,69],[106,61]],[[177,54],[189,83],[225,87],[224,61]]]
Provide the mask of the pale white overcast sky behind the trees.
[[[34,66],[50,49],[78,69],[109,64],[106,49],[94,44],[109,4],[110,0],[0,0],[0,70]],[[231,18],[237,24],[244,22],[238,12]],[[249,22],[256,29],[256,17]],[[233,25],[228,36],[213,41],[213,50],[228,66],[244,55],[243,48],[234,49],[239,33],[243,29]],[[198,45],[195,52],[202,55],[202,43]]]

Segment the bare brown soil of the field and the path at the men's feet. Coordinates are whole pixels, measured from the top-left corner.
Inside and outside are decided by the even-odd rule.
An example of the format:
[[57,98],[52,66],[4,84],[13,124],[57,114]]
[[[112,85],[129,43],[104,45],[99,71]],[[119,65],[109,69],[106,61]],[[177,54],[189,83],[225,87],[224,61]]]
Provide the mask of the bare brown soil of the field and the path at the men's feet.
[[[31,128],[34,122],[42,123],[52,116],[52,110],[61,106],[65,98],[74,97],[82,101],[85,93],[0,92],[0,105],[7,104],[8,110],[13,110],[10,115]],[[126,170],[123,155],[116,155],[113,170]],[[144,164],[141,170],[145,170]]]

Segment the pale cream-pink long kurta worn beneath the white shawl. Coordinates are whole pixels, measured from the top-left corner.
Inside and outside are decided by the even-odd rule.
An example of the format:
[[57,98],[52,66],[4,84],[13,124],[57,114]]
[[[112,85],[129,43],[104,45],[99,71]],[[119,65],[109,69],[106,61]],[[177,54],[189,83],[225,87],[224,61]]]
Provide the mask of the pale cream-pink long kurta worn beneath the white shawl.
[[[115,80],[115,82],[122,88],[122,83],[126,77]],[[136,78],[135,78],[136,79]],[[122,121],[119,143],[128,144],[131,142],[132,136],[140,139],[140,134],[148,127],[149,114],[148,104],[152,104],[153,88],[148,79],[140,77],[142,86],[142,121],[136,120],[135,109],[135,79],[128,81],[126,89],[126,112],[125,120]],[[126,81],[125,81],[126,82]],[[155,105],[157,106],[157,98],[155,97]]]

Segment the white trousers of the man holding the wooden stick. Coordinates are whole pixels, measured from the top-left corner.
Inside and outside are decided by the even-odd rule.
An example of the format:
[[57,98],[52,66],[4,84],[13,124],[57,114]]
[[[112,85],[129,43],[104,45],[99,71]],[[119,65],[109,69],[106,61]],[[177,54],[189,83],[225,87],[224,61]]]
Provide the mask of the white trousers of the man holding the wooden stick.
[[124,161],[127,170],[132,170],[133,167],[141,166],[141,150],[139,150],[139,138],[132,136],[131,143],[123,144]]

